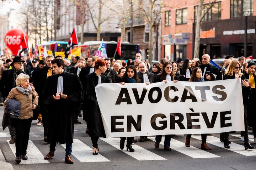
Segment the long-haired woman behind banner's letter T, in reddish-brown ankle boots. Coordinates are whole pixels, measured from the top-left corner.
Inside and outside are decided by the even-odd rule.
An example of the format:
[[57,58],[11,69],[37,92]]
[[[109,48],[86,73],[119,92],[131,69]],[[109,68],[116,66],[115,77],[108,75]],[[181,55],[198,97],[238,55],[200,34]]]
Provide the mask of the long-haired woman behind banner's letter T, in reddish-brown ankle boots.
[[[193,81],[193,82],[204,82],[204,79],[202,77],[202,70],[201,68],[197,67],[192,71],[191,77],[188,81]],[[203,150],[212,150],[211,148],[209,148],[206,144],[206,138],[207,138],[207,134],[201,134],[201,138],[202,138],[202,143],[201,143],[201,149]],[[186,136],[186,142],[185,142],[185,146],[186,147],[190,147],[190,139],[191,139],[191,135],[187,135]]]

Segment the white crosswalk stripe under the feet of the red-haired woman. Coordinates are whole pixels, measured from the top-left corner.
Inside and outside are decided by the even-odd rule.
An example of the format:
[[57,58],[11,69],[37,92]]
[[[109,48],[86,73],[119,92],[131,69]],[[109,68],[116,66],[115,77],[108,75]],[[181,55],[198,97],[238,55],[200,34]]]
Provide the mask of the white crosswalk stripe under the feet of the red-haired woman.
[[[100,153],[93,155],[93,149],[85,145],[79,139],[74,139],[72,145],[72,155],[80,162],[110,162],[107,158],[103,157]],[[61,145],[66,148],[66,144]]]

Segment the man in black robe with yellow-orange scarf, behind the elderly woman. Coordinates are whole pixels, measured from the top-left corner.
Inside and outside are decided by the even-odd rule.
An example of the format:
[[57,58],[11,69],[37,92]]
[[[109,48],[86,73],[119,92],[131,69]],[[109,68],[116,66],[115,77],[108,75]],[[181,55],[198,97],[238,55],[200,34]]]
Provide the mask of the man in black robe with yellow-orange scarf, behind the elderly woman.
[[[43,107],[42,104],[42,93],[44,89],[44,85],[46,83],[46,80],[48,77],[52,75],[53,69],[52,69],[52,60],[54,59],[53,55],[48,55],[46,57],[46,66],[41,68],[37,72],[37,76],[33,81],[34,87],[36,89],[36,92],[39,96],[38,100],[38,106],[41,108],[41,114],[42,114],[42,119],[43,119],[43,127],[44,127],[44,142],[48,142],[47,140],[47,135],[48,135],[48,126],[49,126],[49,121],[48,121],[48,113],[46,109]],[[56,120],[57,121],[57,120]]]

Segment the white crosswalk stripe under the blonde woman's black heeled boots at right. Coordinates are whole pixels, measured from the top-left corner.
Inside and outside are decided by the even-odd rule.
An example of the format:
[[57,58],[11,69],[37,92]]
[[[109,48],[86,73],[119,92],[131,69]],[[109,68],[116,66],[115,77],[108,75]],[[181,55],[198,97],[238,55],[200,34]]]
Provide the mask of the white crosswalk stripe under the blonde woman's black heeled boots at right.
[[[201,140],[201,136],[193,135],[192,137],[195,138],[195,139]],[[224,144],[222,142],[220,142],[218,137],[207,136],[207,143],[210,143],[212,145],[224,148]],[[233,151],[233,152],[245,155],[245,156],[255,156],[256,155],[256,150],[255,149],[245,150],[244,146],[236,144],[234,142],[229,144],[229,146],[230,146],[230,149],[227,149],[229,151]]]

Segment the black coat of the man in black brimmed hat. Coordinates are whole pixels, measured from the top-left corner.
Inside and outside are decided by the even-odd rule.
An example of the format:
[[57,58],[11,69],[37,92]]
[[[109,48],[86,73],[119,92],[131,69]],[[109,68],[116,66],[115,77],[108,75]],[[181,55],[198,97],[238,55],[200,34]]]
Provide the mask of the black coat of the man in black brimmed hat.
[[[26,74],[23,71],[21,71],[21,73]],[[4,97],[4,99],[8,97],[11,89],[14,88],[12,84],[13,75],[14,75],[13,69],[5,70],[4,72],[2,72],[2,77],[0,80],[0,92],[1,92],[1,95]]]

